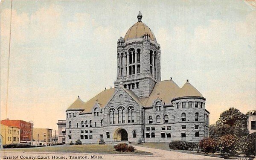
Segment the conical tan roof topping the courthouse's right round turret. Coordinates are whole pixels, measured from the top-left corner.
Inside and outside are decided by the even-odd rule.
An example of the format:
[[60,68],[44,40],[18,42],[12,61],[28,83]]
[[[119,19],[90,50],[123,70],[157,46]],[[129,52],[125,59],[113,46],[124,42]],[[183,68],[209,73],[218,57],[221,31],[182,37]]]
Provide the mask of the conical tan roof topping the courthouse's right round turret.
[[199,96],[204,97],[194,86],[192,86],[189,81],[187,81],[180,91],[175,95],[175,98],[187,97],[187,96]]

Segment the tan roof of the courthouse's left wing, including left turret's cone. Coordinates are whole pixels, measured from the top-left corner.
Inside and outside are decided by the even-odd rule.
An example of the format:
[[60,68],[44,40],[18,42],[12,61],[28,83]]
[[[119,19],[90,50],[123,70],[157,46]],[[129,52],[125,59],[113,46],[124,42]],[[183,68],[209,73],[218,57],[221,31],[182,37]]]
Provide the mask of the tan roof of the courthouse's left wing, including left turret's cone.
[[104,107],[108,101],[111,99],[114,93],[114,88],[110,88],[107,90],[103,90],[101,93],[93,97],[87,102],[83,102],[80,98],[76,99],[76,101],[70,105],[69,109],[84,109],[81,113],[90,113],[91,109],[95,105],[96,101],[98,101],[100,107]]

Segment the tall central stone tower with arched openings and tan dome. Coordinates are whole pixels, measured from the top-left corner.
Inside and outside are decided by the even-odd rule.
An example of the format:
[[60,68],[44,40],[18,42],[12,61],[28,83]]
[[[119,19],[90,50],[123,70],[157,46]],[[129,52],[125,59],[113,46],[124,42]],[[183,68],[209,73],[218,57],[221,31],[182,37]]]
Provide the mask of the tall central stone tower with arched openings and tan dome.
[[117,41],[117,76],[114,86],[122,85],[139,98],[148,97],[157,81],[161,80],[160,44],[151,29],[142,22],[131,26],[125,38]]

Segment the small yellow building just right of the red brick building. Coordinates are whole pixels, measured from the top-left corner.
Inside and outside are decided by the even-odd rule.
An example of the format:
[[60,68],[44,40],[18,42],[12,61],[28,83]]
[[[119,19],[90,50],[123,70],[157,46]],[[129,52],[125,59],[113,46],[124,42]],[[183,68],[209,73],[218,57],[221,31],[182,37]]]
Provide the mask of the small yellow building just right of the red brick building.
[[45,142],[47,146],[52,145],[52,129],[34,128],[33,141]]

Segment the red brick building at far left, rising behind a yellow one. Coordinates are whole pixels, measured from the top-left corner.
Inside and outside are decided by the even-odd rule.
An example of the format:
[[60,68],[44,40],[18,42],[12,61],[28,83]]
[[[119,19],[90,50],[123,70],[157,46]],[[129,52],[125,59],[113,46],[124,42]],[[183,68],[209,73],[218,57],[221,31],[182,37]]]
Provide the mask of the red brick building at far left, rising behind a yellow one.
[[1,120],[1,124],[7,126],[15,126],[20,129],[20,143],[27,143],[32,141],[33,124],[23,120]]

